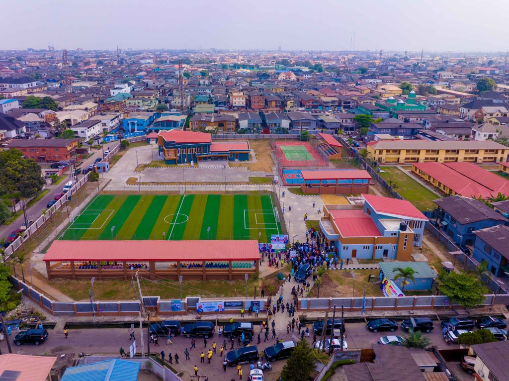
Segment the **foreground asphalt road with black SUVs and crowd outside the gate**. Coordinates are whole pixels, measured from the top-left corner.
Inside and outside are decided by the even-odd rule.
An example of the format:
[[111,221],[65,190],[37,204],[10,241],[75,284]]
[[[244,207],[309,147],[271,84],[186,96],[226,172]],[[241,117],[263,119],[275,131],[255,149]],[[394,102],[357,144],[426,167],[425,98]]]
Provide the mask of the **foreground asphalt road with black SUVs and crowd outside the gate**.
[[[311,326],[309,324],[309,328]],[[11,340],[12,348],[14,353],[20,353],[23,355],[42,355],[44,353],[51,353],[52,355],[59,355],[61,353],[94,353],[94,354],[111,354],[118,355],[119,349],[122,346],[126,352],[128,352],[128,348],[132,341],[129,340],[129,330],[128,329],[70,329],[69,337],[66,339],[63,331],[59,330],[49,330],[49,336],[46,342],[42,343],[39,346],[36,345],[20,345],[16,346],[12,340],[14,338],[13,335],[9,336]],[[256,325],[254,328],[255,338],[252,344],[256,344],[257,335],[260,332],[259,325]],[[313,331],[310,333],[309,342],[313,340]],[[147,330],[145,329],[145,338],[146,338]],[[139,341],[139,329],[135,329],[135,337],[138,339],[136,341],[138,352],[140,351],[140,341]],[[300,339],[300,335],[295,329],[295,332],[290,331],[290,335],[287,335],[286,328],[277,327],[276,326],[276,334],[282,340],[298,340]],[[404,336],[406,333],[401,330],[401,328],[394,332],[379,332],[372,333],[366,329],[366,325],[364,323],[347,323],[346,325],[346,341],[348,343],[349,349],[359,349],[359,348],[369,348],[371,344],[376,343],[381,336],[395,334]],[[433,345],[438,348],[453,348],[456,344],[451,344],[450,346],[445,343],[441,336],[440,323],[435,321],[435,329],[429,334],[424,333],[423,335],[428,336]],[[271,337],[272,335],[269,335]],[[264,335],[261,335],[262,343],[258,345],[259,350],[264,350],[266,347],[271,346],[275,343],[274,339],[270,339],[267,342],[263,342]],[[217,330],[216,335],[213,338],[209,338],[208,340],[208,348],[211,348],[212,343],[215,341],[217,345],[217,354],[212,357],[211,364],[208,364],[207,358],[205,359],[205,363],[200,363],[200,352],[203,350],[204,353],[207,353],[207,350],[204,347],[203,338],[196,338],[196,349],[190,350],[191,359],[190,361],[185,361],[184,349],[190,348],[191,339],[187,339],[185,337],[174,337],[172,338],[172,344],[166,345],[166,338],[161,337],[159,339],[159,346],[155,346],[153,343],[150,345],[150,349],[152,353],[159,353],[161,350],[164,350],[166,354],[166,358],[168,353],[172,353],[174,356],[177,352],[180,357],[180,364],[175,365],[175,361],[173,363],[173,367],[178,371],[187,370],[189,372],[192,371],[192,367],[196,364],[199,367],[199,374],[207,375],[210,379],[220,379],[221,377],[224,381],[230,380],[231,378],[238,379],[237,370],[235,368],[227,368],[224,372],[222,368],[222,358],[219,356],[219,348],[222,344],[223,337],[218,338]],[[230,350],[230,342],[227,339],[228,347]],[[237,341],[235,341],[235,348],[237,348]],[[2,341],[0,345],[2,349],[2,353],[7,353],[7,343],[6,341]],[[145,350],[147,350],[147,340],[145,340]],[[266,373],[267,381],[276,380],[279,372],[282,369],[285,361],[276,361],[273,364],[273,370]],[[243,379],[247,379],[247,375],[249,375],[249,364],[242,365],[243,370]]]

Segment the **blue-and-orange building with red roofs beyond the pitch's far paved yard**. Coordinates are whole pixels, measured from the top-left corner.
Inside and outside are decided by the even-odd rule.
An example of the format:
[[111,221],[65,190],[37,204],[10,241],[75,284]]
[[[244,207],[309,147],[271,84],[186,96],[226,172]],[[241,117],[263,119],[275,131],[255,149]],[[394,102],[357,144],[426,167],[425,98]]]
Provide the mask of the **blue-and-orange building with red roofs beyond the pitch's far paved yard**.
[[185,164],[203,160],[249,160],[250,147],[247,141],[212,142],[207,132],[173,129],[159,132],[157,144],[159,155],[166,164]]

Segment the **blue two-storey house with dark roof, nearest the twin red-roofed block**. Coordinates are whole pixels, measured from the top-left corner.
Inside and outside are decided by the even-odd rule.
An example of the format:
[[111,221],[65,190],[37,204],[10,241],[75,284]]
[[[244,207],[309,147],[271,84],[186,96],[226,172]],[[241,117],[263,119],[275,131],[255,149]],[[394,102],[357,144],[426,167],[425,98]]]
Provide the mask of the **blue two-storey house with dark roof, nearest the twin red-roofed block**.
[[483,202],[468,197],[450,196],[434,203],[441,229],[459,245],[473,245],[476,230],[509,223]]

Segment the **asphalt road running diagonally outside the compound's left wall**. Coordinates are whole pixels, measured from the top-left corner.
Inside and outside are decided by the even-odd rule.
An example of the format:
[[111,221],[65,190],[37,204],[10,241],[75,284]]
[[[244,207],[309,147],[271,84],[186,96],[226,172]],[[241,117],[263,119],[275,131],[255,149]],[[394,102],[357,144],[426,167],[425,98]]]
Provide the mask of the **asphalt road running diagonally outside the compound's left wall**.
[[[116,146],[118,146],[118,143],[108,143],[106,145],[109,147],[110,150],[114,149]],[[106,149],[106,147],[105,147]],[[93,164],[95,159],[97,157],[102,157],[102,149],[95,151],[91,157],[88,159],[85,159],[81,162],[80,167],[81,169],[87,168],[90,164]],[[80,179],[83,175],[79,174],[78,179]],[[33,205],[31,205],[29,208],[27,208],[28,215],[31,219],[35,220],[39,218],[41,215],[42,210],[46,209],[46,205],[49,201],[53,200],[55,194],[61,193],[62,189],[64,188],[64,185],[71,180],[70,173],[66,176],[65,180],[62,180],[58,185],[47,185],[44,189],[50,189],[49,192],[44,195],[43,198],[35,202]],[[9,225],[2,225],[0,226],[0,237],[6,237],[16,229],[19,229],[19,227],[25,222],[23,214],[21,214],[15,221],[13,221]]]

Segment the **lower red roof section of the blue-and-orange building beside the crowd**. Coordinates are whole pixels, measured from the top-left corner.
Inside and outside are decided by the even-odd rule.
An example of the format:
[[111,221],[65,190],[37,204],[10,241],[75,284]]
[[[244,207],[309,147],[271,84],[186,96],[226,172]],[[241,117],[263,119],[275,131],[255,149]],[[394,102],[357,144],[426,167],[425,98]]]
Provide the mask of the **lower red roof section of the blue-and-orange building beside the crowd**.
[[361,209],[332,209],[329,213],[343,237],[380,237],[373,219]]

